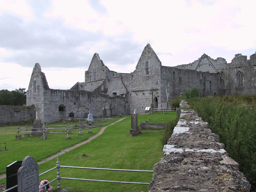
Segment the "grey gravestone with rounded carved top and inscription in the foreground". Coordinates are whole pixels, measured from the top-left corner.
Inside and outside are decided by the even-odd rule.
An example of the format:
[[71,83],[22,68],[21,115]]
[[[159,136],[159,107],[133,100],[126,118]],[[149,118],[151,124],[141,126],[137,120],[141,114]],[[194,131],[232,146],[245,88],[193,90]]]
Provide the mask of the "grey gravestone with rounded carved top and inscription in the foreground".
[[18,192],[38,192],[38,164],[31,156],[26,156],[17,172]]

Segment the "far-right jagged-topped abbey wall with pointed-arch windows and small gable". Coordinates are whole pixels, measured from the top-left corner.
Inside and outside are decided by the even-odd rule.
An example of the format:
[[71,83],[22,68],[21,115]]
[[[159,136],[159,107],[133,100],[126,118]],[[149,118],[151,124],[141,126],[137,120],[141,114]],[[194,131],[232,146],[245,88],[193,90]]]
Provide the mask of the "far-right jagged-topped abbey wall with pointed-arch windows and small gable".
[[[247,56],[236,54],[231,63],[227,63],[224,58],[217,58],[216,60],[210,58],[208,55],[202,55],[197,61],[190,64],[179,65],[175,68],[192,69],[196,71],[210,71],[212,73],[224,72],[225,86],[220,86],[220,77],[216,79],[219,84],[219,91],[216,93],[235,95],[235,94],[256,94],[256,54]],[[213,72],[216,70],[217,72]],[[237,86],[236,74],[238,72],[243,74],[243,86]],[[213,81],[212,81],[213,82]]]

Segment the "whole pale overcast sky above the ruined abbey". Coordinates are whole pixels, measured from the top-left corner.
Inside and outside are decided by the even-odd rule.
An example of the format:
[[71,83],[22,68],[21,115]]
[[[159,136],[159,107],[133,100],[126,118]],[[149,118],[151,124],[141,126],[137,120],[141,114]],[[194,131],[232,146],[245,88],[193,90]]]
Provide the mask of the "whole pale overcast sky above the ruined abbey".
[[84,81],[95,52],[130,73],[151,44],[162,65],[256,51],[256,0],[0,0],[0,90],[28,88],[35,63],[52,89]]

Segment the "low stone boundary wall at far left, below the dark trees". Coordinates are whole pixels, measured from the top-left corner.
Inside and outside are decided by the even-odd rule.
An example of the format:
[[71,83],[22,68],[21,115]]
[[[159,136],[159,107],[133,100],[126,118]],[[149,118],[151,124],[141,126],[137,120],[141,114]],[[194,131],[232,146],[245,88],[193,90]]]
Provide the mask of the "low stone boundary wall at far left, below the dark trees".
[[0,106],[0,125],[35,119],[34,106]]

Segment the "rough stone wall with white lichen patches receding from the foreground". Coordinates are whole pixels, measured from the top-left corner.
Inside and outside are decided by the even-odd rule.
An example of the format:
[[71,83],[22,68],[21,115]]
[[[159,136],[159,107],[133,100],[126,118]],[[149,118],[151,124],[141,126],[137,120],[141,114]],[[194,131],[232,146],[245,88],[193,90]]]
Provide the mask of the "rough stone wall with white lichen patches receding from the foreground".
[[250,183],[218,135],[186,102],[180,108],[180,120],[163,148],[162,159],[154,165],[149,192],[249,192]]

